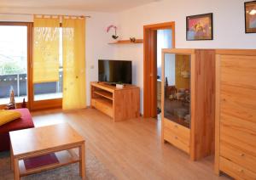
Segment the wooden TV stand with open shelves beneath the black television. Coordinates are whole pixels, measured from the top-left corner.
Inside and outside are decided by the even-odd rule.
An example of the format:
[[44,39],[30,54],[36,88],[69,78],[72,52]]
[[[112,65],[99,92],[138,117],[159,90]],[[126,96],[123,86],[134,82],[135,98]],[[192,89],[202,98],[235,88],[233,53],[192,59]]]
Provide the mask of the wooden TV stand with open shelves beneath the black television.
[[132,85],[116,88],[104,82],[90,82],[90,107],[125,121],[140,115],[140,89]]

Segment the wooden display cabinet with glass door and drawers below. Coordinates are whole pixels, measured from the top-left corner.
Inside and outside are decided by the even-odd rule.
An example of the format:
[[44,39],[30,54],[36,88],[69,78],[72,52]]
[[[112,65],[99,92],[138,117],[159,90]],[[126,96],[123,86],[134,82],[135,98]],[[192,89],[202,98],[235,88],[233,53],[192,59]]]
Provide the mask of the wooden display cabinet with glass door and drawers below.
[[214,50],[163,49],[162,53],[162,139],[192,160],[211,155]]

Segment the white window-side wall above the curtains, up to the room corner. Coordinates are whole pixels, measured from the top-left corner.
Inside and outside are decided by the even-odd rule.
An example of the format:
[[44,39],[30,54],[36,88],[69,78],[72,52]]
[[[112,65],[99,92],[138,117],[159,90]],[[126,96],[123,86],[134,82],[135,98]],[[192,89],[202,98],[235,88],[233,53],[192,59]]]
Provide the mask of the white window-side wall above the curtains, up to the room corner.
[[42,8],[0,8],[0,21],[32,22],[32,15],[1,14],[70,14],[90,15],[86,20],[86,94],[87,104],[90,105],[90,82],[98,80],[97,59],[113,59],[113,47],[108,45],[110,35],[106,33],[108,25],[116,24],[116,15],[109,13],[71,11],[65,9]]

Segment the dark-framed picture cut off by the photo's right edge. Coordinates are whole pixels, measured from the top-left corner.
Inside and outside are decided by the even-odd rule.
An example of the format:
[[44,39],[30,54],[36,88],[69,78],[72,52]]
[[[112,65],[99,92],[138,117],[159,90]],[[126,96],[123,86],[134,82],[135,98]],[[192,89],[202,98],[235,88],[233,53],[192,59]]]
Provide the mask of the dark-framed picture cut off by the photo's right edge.
[[256,1],[244,3],[246,33],[256,33]]

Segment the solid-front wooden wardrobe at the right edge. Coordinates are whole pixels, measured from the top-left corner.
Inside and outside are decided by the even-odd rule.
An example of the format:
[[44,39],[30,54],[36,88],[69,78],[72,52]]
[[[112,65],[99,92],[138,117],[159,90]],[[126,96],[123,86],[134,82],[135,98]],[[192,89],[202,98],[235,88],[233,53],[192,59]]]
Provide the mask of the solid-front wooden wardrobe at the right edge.
[[215,172],[256,179],[256,50],[216,50]]

